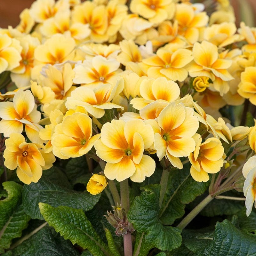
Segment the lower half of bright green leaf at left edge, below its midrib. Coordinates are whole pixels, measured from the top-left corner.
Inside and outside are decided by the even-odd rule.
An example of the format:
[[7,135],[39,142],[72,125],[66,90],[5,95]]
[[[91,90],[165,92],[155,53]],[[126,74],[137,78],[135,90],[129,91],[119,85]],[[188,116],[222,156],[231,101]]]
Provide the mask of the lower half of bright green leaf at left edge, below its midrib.
[[13,238],[22,235],[22,230],[27,228],[29,220],[30,217],[24,212],[23,206],[18,206],[0,231],[0,252],[10,247]]

